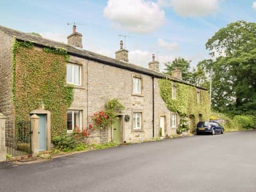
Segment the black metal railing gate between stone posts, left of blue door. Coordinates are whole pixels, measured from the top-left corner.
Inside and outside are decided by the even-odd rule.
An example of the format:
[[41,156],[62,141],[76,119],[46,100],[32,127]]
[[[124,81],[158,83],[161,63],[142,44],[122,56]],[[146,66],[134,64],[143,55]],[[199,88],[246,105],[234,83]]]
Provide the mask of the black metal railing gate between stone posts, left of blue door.
[[5,145],[7,154],[20,156],[31,154],[31,128],[29,121],[5,123]]

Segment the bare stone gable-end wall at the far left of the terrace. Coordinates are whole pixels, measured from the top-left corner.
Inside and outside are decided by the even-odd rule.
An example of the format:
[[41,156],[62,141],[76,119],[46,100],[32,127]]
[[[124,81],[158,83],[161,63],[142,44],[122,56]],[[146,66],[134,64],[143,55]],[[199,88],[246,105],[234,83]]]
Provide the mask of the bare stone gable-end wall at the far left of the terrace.
[[14,117],[12,100],[12,44],[13,37],[0,31],[0,113],[7,119]]

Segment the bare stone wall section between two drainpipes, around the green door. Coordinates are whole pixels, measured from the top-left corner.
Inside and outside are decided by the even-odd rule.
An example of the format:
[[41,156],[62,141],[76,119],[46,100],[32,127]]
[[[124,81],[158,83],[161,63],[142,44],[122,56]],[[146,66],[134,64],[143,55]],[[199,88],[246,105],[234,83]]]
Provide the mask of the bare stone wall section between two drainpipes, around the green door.
[[[125,107],[120,114],[122,118],[125,115],[130,116],[129,122],[123,121],[123,141],[138,142],[150,139],[153,136],[151,77],[93,61],[89,61],[88,74],[89,116],[95,111],[104,110],[108,99],[117,98]],[[142,79],[140,96],[132,94],[132,76],[134,75]],[[132,131],[133,111],[142,112],[142,131]]]

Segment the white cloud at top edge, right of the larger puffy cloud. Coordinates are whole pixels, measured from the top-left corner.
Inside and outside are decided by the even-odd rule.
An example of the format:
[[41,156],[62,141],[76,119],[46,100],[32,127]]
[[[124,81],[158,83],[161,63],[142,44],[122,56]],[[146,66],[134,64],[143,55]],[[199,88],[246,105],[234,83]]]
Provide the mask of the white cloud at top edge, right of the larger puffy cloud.
[[200,17],[214,13],[223,0],[158,0],[159,6],[172,6],[173,10],[184,17]]

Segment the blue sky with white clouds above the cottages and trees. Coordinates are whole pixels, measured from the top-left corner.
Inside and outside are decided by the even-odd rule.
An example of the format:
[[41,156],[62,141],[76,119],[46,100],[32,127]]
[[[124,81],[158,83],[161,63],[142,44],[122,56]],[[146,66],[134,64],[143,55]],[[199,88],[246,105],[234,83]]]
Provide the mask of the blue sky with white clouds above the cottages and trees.
[[[132,63],[147,67],[151,54],[161,63],[175,57],[209,58],[205,43],[230,22],[255,22],[253,0],[109,0],[3,1],[0,25],[36,32],[66,43],[67,22],[78,22],[84,49],[114,57],[118,34],[129,35],[126,47]],[[256,8],[256,6],[255,6]]]

